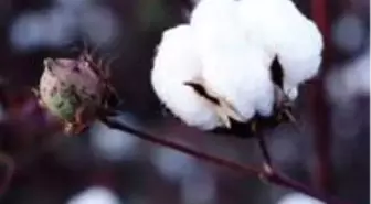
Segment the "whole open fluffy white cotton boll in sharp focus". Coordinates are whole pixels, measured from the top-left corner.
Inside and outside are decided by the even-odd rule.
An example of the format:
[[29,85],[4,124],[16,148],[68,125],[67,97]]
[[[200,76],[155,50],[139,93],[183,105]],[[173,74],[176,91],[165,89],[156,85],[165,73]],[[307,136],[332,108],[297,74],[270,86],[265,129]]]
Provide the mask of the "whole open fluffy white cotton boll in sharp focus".
[[[189,24],[163,32],[151,83],[187,125],[231,128],[274,115],[277,89],[295,100],[317,75],[322,46],[316,24],[290,0],[202,0]],[[274,61],[282,83],[273,79]]]

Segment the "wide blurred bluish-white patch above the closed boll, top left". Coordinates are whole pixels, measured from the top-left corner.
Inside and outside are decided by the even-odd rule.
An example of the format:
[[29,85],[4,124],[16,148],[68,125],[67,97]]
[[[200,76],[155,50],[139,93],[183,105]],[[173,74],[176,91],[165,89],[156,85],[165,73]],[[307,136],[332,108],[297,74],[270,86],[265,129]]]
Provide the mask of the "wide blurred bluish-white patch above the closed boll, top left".
[[10,29],[10,42],[20,51],[64,46],[83,33],[94,44],[110,45],[119,33],[107,8],[92,0],[56,0],[47,10],[22,13]]

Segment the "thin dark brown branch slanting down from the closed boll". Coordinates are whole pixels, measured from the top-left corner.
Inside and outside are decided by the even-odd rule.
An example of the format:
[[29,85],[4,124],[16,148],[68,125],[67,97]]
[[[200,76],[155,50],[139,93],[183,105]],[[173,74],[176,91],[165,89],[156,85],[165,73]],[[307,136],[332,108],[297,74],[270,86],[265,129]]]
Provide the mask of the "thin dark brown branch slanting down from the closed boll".
[[[198,150],[193,150],[190,149],[188,147],[184,147],[182,144],[179,144],[177,142],[173,141],[169,141],[167,139],[161,139],[159,137],[152,136],[150,133],[146,133],[142,132],[140,130],[136,130],[134,128],[130,128],[121,122],[118,122],[116,120],[113,119],[108,119],[108,118],[102,118],[102,121],[108,126],[109,128],[113,129],[117,129],[120,131],[125,131],[128,133],[131,133],[135,137],[138,137],[140,139],[160,144],[160,146],[165,146],[168,148],[171,148],[173,150],[180,151],[182,153],[189,154],[189,155],[193,155],[197,159],[220,165],[220,167],[224,167],[234,171],[239,171],[241,173],[247,174],[247,175],[255,175],[255,176],[259,176],[261,179],[272,183],[272,184],[276,184],[279,186],[284,186],[284,187],[288,187],[292,189],[294,191],[297,192],[301,192],[304,194],[307,194],[309,196],[316,197],[317,200],[324,201],[325,203],[328,204],[346,204],[346,202],[341,202],[338,198],[333,198],[330,197],[321,192],[317,192],[315,190],[311,190],[309,187],[307,187],[306,185],[298,183],[297,181],[294,181],[289,178],[287,178],[286,175],[284,175],[283,173],[274,170],[271,165],[265,165],[265,168],[263,169],[257,169],[254,167],[250,167],[250,165],[245,165],[245,164],[241,164],[234,161],[230,161],[223,158],[218,158]],[[261,148],[263,151],[268,152],[266,144],[264,142],[264,140],[262,140],[263,142],[261,143]],[[269,154],[267,154],[269,155]]]

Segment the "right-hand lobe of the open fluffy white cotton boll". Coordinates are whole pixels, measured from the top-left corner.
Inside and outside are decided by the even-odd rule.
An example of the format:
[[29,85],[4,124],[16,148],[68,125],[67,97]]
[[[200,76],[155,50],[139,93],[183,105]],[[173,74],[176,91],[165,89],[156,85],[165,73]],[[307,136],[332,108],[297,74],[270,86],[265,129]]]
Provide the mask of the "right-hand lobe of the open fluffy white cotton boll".
[[284,90],[295,99],[297,86],[319,71],[324,42],[317,25],[290,0],[242,0],[239,15],[246,35],[278,56]]

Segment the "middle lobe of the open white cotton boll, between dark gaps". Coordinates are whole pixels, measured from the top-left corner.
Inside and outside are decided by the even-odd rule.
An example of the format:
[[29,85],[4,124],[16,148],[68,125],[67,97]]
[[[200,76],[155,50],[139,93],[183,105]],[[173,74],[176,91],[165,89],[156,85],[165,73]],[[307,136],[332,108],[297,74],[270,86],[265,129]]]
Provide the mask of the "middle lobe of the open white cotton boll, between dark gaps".
[[271,57],[245,37],[236,15],[237,2],[202,0],[191,14],[202,76],[208,88],[251,119],[256,110],[271,115],[274,103]]

